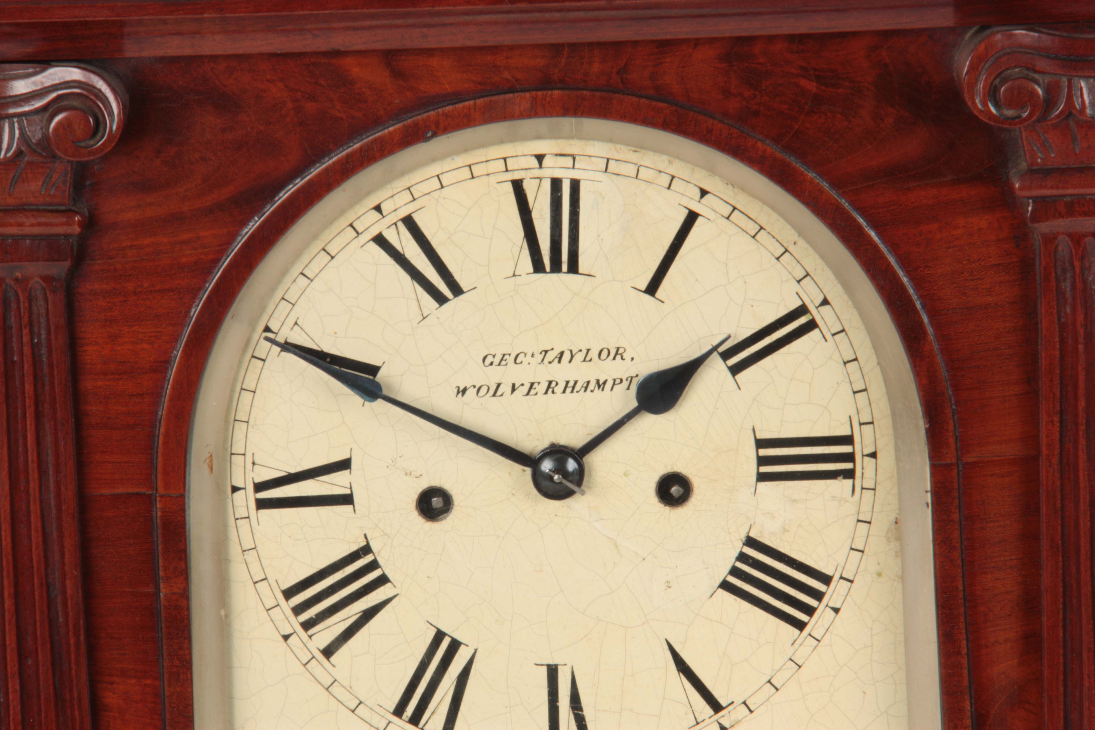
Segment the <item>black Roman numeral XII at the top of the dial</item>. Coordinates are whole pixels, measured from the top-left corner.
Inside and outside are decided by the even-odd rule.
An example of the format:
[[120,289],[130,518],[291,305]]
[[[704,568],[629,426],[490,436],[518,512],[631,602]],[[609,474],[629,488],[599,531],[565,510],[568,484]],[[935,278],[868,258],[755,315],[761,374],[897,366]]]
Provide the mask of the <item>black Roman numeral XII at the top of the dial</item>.
[[[538,178],[540,184],[544,178]],[[517,216],[521,219],[525,231],[525,243],[532,262],[533,274],[563,274],[563,179],[549,177],[548,205],[548,267],[544,267],[543,250],[540,247],[540,234],[532,220],[532,206],[525,190],[523,179],[511,179],[514,200],[517,202]],[[578,223],[580,221],[581,181],[567,178],[569,190],[567,195],[566,213],[566,274],[580,274],[578,270]]]

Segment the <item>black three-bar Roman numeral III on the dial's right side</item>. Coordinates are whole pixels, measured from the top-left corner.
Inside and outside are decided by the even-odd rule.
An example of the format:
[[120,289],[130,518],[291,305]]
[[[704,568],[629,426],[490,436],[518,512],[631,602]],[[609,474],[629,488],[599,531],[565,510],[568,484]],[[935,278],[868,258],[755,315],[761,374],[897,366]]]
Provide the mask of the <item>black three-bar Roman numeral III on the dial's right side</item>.
[[852,496],[855,496],[853,433],[758,439],[753,429],[753,443],[757,447],[757,484],[848,479],[852,483]]

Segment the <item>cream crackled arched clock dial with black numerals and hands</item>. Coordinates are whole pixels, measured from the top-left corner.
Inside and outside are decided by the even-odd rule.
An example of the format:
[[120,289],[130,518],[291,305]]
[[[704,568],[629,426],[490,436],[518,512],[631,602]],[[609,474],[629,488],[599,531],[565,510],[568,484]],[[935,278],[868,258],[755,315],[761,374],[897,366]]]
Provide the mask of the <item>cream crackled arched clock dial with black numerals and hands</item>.
[[885,385],[757,199],[485,146],[347,204],[264,306],[232,727],[906,727]]

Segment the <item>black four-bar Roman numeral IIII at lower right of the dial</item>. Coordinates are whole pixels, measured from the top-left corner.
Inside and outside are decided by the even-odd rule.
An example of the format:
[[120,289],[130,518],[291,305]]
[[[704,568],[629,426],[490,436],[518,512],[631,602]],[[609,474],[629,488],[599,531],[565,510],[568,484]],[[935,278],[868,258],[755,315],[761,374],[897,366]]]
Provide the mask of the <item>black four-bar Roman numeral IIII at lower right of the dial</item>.
[[746,535],[719,588],[802,633],[817,613],[832,573]]

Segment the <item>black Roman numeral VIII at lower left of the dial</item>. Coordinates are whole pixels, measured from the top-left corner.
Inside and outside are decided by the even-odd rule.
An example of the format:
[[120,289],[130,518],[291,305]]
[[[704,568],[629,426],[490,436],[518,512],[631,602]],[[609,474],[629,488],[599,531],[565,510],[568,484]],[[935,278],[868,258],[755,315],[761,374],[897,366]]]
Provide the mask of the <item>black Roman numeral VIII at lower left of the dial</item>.
[[391,582],[380,568],[372,547],[366,542],[292,586],[281,589],[281,595],[309,636],[349,621],[322,649],[323,656],[330,661],[335,652],[395,600],[391,595],[379,603],[361,606],[369,594]]

